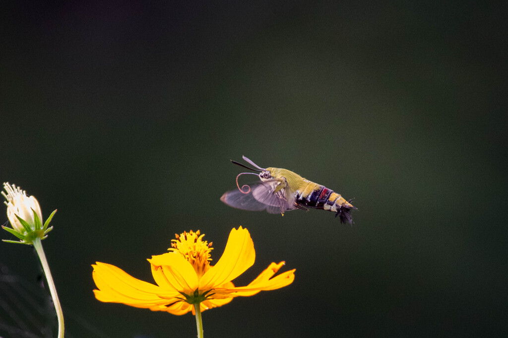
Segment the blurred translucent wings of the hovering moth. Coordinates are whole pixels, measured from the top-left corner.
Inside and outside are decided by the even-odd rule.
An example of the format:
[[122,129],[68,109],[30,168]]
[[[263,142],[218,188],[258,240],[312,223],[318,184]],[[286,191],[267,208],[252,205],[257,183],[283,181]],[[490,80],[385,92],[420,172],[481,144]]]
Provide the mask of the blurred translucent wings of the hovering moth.
[[294,201],[285,196],[285,189],[275,192],[277,183],[276,180],[252,183],[247,194],[235,189],[225,193],[220,200],[234,208],[250,211],[283,213],[295,209]]

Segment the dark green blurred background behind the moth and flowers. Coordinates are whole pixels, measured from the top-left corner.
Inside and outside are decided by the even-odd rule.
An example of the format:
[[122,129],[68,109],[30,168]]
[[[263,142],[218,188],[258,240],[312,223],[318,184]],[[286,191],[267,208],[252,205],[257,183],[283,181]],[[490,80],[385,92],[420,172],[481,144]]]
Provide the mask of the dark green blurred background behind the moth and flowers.
[[[192,315],[97,301],[90,264],[151,282],[146,258],[174,233],[200,229],[218,259],[239,225],[257,257],[237,284],[280,260],[296,279],[204,312],[207,337],[506,334],[506,3],[0,13],[0,180],[44,217],[58,209],[44,247],[68,337],[95,336],[79,320],[108,337],[195,336]],[[355,223],[224,205],[242,155],[355,197]],[[0,251],[36,283],[29,248]]]

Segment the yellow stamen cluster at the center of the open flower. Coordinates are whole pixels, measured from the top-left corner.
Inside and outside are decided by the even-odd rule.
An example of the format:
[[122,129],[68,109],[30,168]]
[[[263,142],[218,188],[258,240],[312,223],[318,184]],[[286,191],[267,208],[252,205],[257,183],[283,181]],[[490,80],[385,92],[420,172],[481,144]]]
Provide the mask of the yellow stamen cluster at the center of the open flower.
[[212,242],[203,240],[205,234],[200,234],[199,230],[194,232],[184,231],[180,235],[175,234],[176,239],[171,240],[171,248],[168,251],[180,253],[201,276],[210,268],[210,251],[213,250]]

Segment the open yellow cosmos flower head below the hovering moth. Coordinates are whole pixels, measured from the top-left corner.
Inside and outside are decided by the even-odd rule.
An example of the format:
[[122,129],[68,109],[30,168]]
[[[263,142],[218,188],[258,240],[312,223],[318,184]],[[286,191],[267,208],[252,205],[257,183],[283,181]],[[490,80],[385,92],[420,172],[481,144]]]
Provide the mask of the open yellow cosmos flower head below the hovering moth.
[[[231,282],[254,263],[256,253],[247,229],[231,230],[224,254],[210,265],[211,242],[203,240],[199,230],[183,232],[172,240],[169,253],[152,256],[153,279],[157,285],[134,278],[120,268],[97,262],[93,290],[98,300],[123,303],[152,311],[183,315],[229,303],[233,297],[252,296],[263,290],[287,286],[295,279],[295,269],[273,275],[284,265],[271,263],[255,280],[243,287]],[[273,277],[273,278],[272,278]]]

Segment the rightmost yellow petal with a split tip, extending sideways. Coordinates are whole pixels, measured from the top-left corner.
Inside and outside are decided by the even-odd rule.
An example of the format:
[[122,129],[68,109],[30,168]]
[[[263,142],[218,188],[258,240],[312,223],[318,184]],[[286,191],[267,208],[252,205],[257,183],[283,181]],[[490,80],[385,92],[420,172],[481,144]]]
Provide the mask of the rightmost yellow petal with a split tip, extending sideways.
[[[261,274],[253,280],[249,285],[233,288],[215,288],[214,292],[224,295],[236,296],[252,296],[260,291],[280,289],[288,286],[295,280],[295,269],[285,271],[274,278],[271,278],[284,265],[284,262],[278,264],[271,263]],[[271,279],[270,279],[271,278]]]

